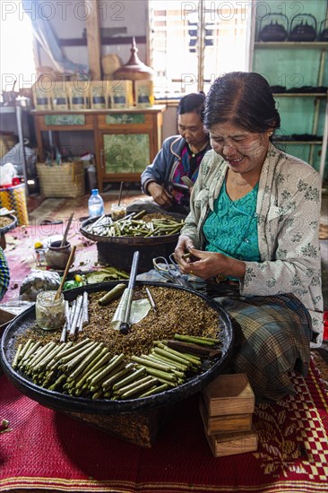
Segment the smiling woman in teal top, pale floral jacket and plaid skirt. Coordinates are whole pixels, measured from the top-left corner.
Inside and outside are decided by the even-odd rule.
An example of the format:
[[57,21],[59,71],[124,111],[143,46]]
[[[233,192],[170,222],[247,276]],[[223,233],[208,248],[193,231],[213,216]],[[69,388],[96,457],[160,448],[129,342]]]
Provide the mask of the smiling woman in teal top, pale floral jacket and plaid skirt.
[[230,370],[246,373],[258,400],[279,400],[295,393],[289,372],[306,376],[310,343],[323,340],[320,176],[272,144],[281,118],[260,74],[216,79],[203,121],[212,150],[175,259],[181,272],[218,284],[236,333]]

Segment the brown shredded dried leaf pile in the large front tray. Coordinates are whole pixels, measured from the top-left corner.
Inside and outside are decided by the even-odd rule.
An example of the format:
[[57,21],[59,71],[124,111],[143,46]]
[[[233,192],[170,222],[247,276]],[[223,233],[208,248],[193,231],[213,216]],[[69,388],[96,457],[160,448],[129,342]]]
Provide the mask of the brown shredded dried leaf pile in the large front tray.
[[[82,332],[74,336],[78,342],[88,337],[91,341],[103,342],[112,354],[124,353],[126,358],[148,353],[154,341],[173,339],[175,333],[218,337],[220,321],[218,312],[193,293],[162,287],[151,287],[151,295],[157,307],[157,314],[150,310],[148,315],[138,324],[133,324],[126,335],[110,327],[110,322],[117,308],[118,300],[108,306],[99,307],[99,298],[104,291],[89,293],[89,324],[84,325]],[[147,298],[144,287],[134,290],[134,299]],[[45,344],[50,341],[59,342],[59,332],[45,332],[41,329],[30,329],[17,338],[18,343],[31,339]],[[68,337],[68,341],[70,338]]]

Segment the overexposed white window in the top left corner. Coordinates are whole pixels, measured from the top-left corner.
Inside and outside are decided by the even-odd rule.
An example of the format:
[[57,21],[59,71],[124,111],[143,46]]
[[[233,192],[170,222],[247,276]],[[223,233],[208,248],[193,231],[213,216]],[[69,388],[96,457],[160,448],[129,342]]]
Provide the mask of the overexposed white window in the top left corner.
[[0,91],[17,91],[36,78],[30,17],[21,0],[0,2],[0,9]]

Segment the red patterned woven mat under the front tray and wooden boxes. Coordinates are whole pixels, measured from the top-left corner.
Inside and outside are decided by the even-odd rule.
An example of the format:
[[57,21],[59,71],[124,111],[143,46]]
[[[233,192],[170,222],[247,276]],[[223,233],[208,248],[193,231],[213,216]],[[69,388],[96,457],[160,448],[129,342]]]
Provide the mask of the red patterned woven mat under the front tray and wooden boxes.
[[111,493],[327,492],[328,395],[311,364],[298,394],[261,404],[255,453],[214,458],[198,396],[184,402],[151,449],[132,445],[31,401],[0,379],[0,491]]

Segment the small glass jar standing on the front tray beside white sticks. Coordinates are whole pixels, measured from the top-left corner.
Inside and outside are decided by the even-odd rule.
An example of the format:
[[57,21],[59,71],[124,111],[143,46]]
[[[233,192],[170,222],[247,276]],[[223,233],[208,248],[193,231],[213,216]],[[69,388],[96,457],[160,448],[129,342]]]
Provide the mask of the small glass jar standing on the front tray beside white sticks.
[[65,299],[61,293],[55,299],[56,291],[43,291],[38,294],[35,304],[37,324],[45,331],[63,328],[65,324]]

